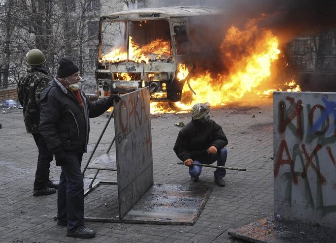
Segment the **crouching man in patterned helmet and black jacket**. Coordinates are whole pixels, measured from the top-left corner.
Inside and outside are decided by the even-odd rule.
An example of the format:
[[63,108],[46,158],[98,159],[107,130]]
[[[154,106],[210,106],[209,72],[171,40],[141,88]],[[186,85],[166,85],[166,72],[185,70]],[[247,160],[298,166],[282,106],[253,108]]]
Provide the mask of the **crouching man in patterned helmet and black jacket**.
[[[210,104],[198,103],[191,109],[192,120],[178,133],[174,151],[179,159],[189,166],[191,180],[199,181],[202,166],[192,164],[212,164],[217,160],[217,165],[225,166],[228,144],[223,129],[216,122],[210,120]],[[214,171],[215,183],[225,186],[223,177],[225,169]]]

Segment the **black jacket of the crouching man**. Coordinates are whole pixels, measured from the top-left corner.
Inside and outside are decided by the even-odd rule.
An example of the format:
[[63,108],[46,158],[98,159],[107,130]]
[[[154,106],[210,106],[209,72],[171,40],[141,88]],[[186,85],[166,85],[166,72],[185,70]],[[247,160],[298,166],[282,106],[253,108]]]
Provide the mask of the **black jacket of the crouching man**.
[[216,122],[209,120],[202,123],[198,120],[191,120],[178,133],[174,151],[183,162],[191,158],[198,160],[206,156],[206,151],[215,146],[217,151],[228,144],[223,129]]

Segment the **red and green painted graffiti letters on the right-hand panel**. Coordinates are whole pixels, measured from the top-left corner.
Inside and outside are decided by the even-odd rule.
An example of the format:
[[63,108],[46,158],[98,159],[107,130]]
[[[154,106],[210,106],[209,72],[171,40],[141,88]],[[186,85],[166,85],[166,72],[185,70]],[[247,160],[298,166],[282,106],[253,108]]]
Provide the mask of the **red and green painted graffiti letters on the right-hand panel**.
[[335,183],[336,102],[325,96],[312,100],[314,104],[306,104],[305,100],[287,96],[278,103],[274,178],[279,176],[280,168],[288,166],[281,175],[287,182],[285,201],[292,203],[292,189],[303,182],[306,206],[325,214],[336,212],[335,200],[330,200],[335,205],[329,202],[328,206],[323,200],[324,186],[329,181]]

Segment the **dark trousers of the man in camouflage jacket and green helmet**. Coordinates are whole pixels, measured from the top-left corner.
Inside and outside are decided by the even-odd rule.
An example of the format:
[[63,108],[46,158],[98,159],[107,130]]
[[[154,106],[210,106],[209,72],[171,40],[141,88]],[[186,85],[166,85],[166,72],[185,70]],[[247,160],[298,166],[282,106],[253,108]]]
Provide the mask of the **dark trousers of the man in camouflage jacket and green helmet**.
[[35,172],[34,190],[40,190],[45,187],[49,181],[50,162],[53,160],[53,153],[48,150],[43,137],[40,133],[32,133],[35,144],[38,148],[38,159]]

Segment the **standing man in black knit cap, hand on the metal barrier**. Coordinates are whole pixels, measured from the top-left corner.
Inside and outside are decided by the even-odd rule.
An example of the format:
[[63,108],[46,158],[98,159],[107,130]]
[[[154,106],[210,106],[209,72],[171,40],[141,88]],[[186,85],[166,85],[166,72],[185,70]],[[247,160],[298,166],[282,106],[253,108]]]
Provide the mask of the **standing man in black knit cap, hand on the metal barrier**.
[[40,94],[40,132],[61,166],[57,195],[57,224],[67,225],[67,236],[91,238],[84,226],[83,153],[89,141],[89,118],[104,113],[118,95],[91,102],[79,89],[79,68],[68,58],[59,61],[57,77]]

